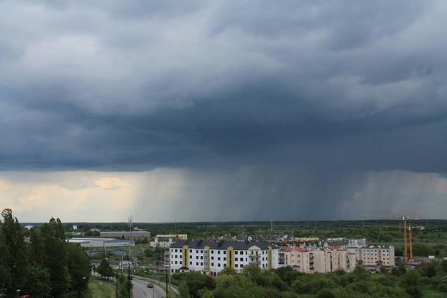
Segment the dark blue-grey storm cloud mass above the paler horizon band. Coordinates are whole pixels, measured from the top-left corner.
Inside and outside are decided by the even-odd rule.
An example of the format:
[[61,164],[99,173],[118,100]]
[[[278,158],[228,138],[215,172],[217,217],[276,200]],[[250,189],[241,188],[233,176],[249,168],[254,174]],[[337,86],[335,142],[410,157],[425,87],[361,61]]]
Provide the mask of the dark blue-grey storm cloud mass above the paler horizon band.
[[446,171],[441,1],[0,5],[2,168]]

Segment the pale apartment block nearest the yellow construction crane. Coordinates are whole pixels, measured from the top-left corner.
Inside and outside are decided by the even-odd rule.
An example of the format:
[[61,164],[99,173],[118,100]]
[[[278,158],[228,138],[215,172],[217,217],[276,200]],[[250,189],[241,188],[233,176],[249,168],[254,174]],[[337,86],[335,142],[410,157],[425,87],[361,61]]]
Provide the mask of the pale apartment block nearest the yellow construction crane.
[[358,264],[363,266],[393,267],[395,265],[394,246],[349,247],[347,250],[354,253]]

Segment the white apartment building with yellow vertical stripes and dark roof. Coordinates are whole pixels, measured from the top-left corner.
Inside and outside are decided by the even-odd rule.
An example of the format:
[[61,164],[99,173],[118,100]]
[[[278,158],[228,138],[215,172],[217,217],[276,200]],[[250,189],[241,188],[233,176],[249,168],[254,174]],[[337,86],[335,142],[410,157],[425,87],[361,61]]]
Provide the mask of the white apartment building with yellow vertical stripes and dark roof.
[[201,271],[216,276],[225,267],[249,264],[278,267],[278,251],[265,241],[176,241],[170,246],[170,272]]

